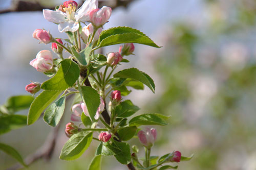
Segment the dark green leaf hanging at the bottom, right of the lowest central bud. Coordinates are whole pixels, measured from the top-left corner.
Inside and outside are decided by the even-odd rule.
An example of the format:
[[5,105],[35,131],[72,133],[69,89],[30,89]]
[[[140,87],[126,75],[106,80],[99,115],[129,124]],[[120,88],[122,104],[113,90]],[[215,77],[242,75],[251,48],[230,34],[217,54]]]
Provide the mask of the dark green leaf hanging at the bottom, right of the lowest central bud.
[[120,153],[114,155],[118,162],[125,165],[131,162],[130,145],[128,143],[114,140],[112,145],[121,150]]

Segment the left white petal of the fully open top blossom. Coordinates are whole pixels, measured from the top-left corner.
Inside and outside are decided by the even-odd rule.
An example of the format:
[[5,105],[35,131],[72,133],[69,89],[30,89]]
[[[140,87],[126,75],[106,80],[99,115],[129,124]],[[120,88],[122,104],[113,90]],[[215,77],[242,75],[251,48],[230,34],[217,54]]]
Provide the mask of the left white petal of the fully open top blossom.
[[65,15],[60,13],[59,11],[53,11],[49,9],[42,10],[42,13],[44,14],[44,17],[46,20],[54,23],[61,23],[65,22]]

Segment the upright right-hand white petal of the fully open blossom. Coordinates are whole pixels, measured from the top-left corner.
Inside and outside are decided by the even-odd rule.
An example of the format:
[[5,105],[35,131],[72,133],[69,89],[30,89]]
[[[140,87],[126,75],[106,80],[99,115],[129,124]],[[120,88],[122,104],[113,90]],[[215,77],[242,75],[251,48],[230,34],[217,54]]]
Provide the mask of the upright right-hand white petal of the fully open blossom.
[[98,0],[87,0],[83,5],[76,11],[75,19],[78,21],[89,21],[89,13],[98,8]]

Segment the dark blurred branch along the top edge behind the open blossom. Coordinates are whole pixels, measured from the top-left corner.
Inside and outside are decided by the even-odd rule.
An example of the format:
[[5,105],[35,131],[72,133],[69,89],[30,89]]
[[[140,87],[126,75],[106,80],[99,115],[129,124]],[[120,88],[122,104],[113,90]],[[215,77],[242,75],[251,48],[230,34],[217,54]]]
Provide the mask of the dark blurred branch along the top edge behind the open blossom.
[[[99,8],[102,6],[109,6],[113,9],[117,7],[124,7],[127,8],[127,6],[132,3],[135,0],[99,0]],[[81,5],[80,5],[81,6]],[[31,1],[13,1],[12,8],[10,9],[4,9],[0,10],[0,14],[10,13],[10,12],[29,12],[29,11],[42,11],[43,9],[51,9],[54,10],[54,7],[47,7],[42,6],[38,2],[31,2]]]

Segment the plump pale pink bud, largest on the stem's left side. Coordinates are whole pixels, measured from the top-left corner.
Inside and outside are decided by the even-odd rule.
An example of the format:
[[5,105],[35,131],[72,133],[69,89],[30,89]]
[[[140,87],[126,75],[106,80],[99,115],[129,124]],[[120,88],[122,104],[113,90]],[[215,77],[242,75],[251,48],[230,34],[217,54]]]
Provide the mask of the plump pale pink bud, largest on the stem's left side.
[[47,72],[52,69],[52,53],[49,50],[42,50],[37,53],[36,58],[30,61],[30,65],[36,68],[37,71]]

